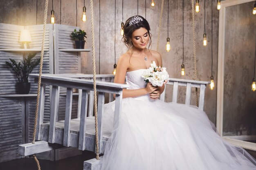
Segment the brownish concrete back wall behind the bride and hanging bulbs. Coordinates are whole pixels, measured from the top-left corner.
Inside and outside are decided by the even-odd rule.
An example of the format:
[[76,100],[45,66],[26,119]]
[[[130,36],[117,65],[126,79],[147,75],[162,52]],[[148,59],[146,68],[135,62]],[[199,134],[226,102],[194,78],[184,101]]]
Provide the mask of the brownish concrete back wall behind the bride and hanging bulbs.
[[[152,49],[156,49],[157,31],[159,26],[161,1],[155,0],[155,7],[150,6],[150,0],[146,4],[146,19],[150,23],[152,37]],[[196,51],[197,51],[197,71],[198,79],[209,81],[211,76],[211,1],[206,0],[206,33],[208,45],[202,46],[204,33],[204,1],[200,1],[201,11],[195,13],[196,29]],[[1,0],[0,1],[0,22],[20,25],[43,24],[45,0]],[[120,25],[122,21],[122,1],[117,0],[115,11],[115,0],[101,0],[99,11],[99,0],[94,1],[94,28],[96,44],[96,64],[97,73],[111,74],[115,63],[114,53],[114,30],[116,29],[116,60],[126,52],[127,48],[121,42]],[[213,5],[213,75],[217,84],[217,55],[218,55],[218,10],[216,1]],[[54,0],[54,11],[57,24],[67,24],[80,26],[88,33],[86,48],[91,48],[91,24],[90,24],[90,2],[85,0],[87,7],[88,21],[81,21],[83,9],[83,0]],[[77,9],[77,15],[76,15]],[[49,1],[47,23],[49,23],[50,11],[52,10],[52,1]],[[99,18],[99,12],[101,16]],[[116,12],[116,27],[115,24]],[[139,0],[139,15],[145,16],[145,1]],[[124,21],[132,15],[137,15],[137,0],[124,0]],[[100,19],[100,21],[99,21]],[[100,28],[99,28],[100,24]],[[100,29],[100,32],[99,32]],[[100,34],[100,36],[99,36]],[[192,11],[191,1],[184,2],[184,64],[186,75],[180,75],[182,64],[182,1],[170,0],[169,10],[169,37],[171,51],[165,51],[167,38],[167,0],[164,2],[164,13],[162,20],[162,30],[160,34],[159,52],[162,55],[164,66],[167,67],[170,77],[193,79],[193,29],[192,29]],[[99,50],[100,44],[100,50]],[[92,53],[81,54],[82,73],[92,73]],[[169,93],[171,90],[167,89]],[[185,93],[182,89],[180,93]],[[171,101],[170,97],[167,100]],[[179,102],[184,103],[185,98],[180,97]],[[192,104],[195,104],[195,94],[192,95]],[[204,110],[209,119],[216,123],[216,88],[210,91],[206,90]],[[227,126],[232,124],[232,119],[227,119]],[[238,126],[228,129],[235,131]]]

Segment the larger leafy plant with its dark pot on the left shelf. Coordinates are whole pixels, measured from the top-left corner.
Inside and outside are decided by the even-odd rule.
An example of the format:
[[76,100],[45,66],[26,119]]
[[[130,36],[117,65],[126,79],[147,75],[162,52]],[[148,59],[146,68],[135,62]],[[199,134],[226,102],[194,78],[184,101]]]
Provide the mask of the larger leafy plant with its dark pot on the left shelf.
[[9,60],[11,62],[5,62],[5,64],[15,72],[18,78],[18,83],[16,84],[18,94],[29,94],[29,74],[33,71],[34,67],[40,63],[40,58],[34,58],[35,55],[36,53],[24,53],[21,63],[17,63],[15,60],[10,58]]

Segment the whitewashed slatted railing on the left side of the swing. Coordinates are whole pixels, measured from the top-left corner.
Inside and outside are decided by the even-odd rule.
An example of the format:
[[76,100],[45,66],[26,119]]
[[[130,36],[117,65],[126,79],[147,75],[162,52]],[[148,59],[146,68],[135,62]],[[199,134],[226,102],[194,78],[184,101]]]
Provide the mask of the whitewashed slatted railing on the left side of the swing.
[[[30,75],[35,79],[38,79],[38,75]],[[75,77],[75,78],[72,78]],[[41,125],[43,124],[44,116],[44,101],[45,101],[45,85],[52,86],[51,102],[50,102],[50,123],[49,123],[49,143],[55,143],[55,131],[56,131],[56,115],[58,114],[58,99],[60,87],[67,88],[67,98],[66,98],[66,108],[65,108],[65,124],[64,124],[64,134],[63,134],[63,146],[69,146],[70,144],[70,121],[71,121],[71,108],[72,108],[72,95],[73,89],[79,89],[79,114],[80,117],[80,127],[79,127],[79,145],[80,150],[85,150],[85,128],[86,128],[86,117],[88,111],[88,93],[93,91],[93,81],[86,80],[85,78],[90,78],[91,76],[82,75],[42,75],[41,78],[41,91],[40,91],[40,104],[38,112],[38,124],[36,139],[41,140]],[[97,76],[101,80],[106,80],[111,76]],[[127,88],[128,85],[116,84],[112,82],[97,82],[96,88],[99,92],[98,94],[98,129],[99,129],[99,146],[102,146],[102,121],[103,121],[103,105],[105,100],[105,93],[116,94],[115,97],[115,120],[116,123],[119,119],[119,113],[121,110],[121,99],[123,88]],[[90,95],[93,96],[93,95]],[[92,108],[92,107],[91,107]],[[89,116],[92,113],[89,112]],[[100,148],[100,152],[102,149]]]

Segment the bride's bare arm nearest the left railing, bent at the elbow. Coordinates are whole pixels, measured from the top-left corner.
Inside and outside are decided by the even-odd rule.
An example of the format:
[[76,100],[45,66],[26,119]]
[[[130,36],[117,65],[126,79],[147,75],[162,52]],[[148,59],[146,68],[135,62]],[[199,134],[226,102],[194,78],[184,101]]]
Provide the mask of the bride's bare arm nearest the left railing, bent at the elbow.
[[[115,75],[114,83],[124,84],[126,71],[129,66],[130,56],[127,54],[121,55],[117,63],[117,72]],[[123,98],[126,97],[138,97],[141,95],[146,95],[152,93],[156,90],[156,87],[152,86],[151,83],[148,83],[146,88],[139,89],[124,89],[123,90]],[[115,97],[115,95],[114,95]]]

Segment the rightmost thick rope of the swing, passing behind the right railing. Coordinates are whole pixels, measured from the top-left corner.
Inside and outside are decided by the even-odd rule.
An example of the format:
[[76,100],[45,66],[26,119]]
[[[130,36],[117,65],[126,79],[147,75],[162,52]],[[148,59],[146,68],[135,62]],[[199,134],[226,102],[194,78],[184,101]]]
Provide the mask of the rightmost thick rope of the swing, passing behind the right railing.
[[[196,69],[196,46],[195,46],[195,9],[194,9],[194,0],[192,2],[192,23],[193,23],[193,52],[194,52],[194,79],[198,80],[198,72]],[[195,88],[196,96],[196,106],[198,106],[198,88]]]

